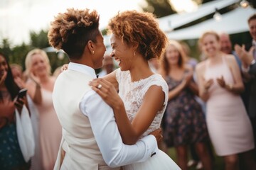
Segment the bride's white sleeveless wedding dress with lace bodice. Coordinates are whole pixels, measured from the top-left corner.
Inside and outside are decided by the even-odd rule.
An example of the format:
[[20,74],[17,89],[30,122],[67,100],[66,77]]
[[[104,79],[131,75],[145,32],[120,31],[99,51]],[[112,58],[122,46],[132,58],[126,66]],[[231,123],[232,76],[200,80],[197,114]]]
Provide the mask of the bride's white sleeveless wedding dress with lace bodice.
[[[165,101],[163,110],[159,111],[156,114],[153,122],[149,126],[148,130],[144,132],[142,137],[149,135],[150,132],[160,128],[161,119],[163,118],[164,111],[166,109],[166,104],[168,101],[168,87],[166,85],[166,81],[161,77],[160,74],[153,74],[146,79],[142,79],[140,81],[131,81],[131,75],[129,71],[122,72],[120,69],[117,69],[117,81],[119,83],[119,96],[124,101],[124,107],[127,112],[127,116],[132,122],[135,117],[137,111],[139,111],[140,106],[142,106],[144,95],[146,91],[148,91],[150,86],[161,86],[162,90],[165,93]],[[129,164],[127,166],[122,166],[124,170],[176,170],[180,169],[178,165],[164,152],[158,150],[156,155],[150,157],[146,162],[139,162],[134,164]]]

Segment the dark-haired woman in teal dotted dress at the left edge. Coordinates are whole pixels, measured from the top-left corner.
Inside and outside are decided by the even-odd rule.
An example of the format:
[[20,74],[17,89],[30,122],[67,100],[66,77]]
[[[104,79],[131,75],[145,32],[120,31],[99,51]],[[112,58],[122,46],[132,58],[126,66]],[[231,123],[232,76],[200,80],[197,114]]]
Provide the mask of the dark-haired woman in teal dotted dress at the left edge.
[[20,88],[14,81],[6,57],[0,53],[0,169],[30,169],[18,144],[15,109],[21,113],[26,96],[17,99]]

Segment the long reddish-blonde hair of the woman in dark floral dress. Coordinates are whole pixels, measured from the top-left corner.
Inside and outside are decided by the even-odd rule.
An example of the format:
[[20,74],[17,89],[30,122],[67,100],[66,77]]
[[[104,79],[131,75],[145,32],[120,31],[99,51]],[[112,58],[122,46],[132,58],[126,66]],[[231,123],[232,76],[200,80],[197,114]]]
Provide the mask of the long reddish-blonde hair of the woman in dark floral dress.
[[[167,47],[169,47],[170,45],[173,46],[178,51],[178,55],[179,55],[178,56],[178,67],[183,68],[184,64],[185,64],[185,60],[186,60],[186,53],[183,51],[181,44],[176,40],[169,40],[169,44],[167,45]],[[169,71],[171,70],[169,62],[166,59],[166,51],[161,56],[160,61],[161,61],[160,62],[161,74],[164,74],[164,76],[166,76],[169,73]]]

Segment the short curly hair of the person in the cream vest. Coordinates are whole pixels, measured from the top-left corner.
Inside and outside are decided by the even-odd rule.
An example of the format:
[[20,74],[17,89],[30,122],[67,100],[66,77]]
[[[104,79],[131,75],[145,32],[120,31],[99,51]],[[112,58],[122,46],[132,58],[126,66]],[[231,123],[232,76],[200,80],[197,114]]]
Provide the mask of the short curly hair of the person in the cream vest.
[[65,13],[58,13],[50,23],[49,44],[57,50],[64,50],[70,58],[79,59],[87,42],[96,42],[100,33],[99,20],[95,10],[68,8]]

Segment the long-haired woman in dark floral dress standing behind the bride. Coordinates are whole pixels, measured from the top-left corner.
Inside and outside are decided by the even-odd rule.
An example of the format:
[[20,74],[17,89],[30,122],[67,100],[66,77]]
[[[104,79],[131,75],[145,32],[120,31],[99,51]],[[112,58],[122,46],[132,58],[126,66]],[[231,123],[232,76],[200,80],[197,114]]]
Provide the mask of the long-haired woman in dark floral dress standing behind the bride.
[[175,147],[181,169],[188,169],[188,147],[195,147],[204,169],[212,169],[206,147],[209,137],[205,115],[195,97],[198,86],[193,80],[193,67],[186,62],[181,44],[170,40],[161,58],[160,69],[169,86],[164,140],[168,147]]

